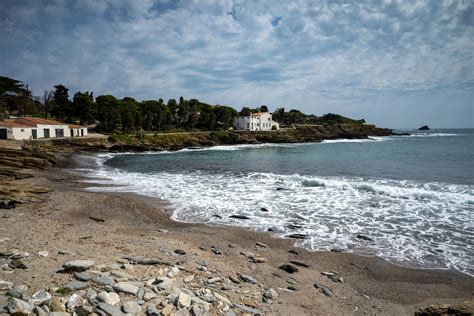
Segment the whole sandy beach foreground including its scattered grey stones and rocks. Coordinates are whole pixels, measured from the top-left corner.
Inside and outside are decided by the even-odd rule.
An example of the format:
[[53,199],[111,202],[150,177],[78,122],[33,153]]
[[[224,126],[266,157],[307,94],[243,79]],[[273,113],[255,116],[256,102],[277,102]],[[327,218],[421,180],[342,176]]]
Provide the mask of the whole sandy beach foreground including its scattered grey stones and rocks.
[[84,192],[68,155],[0,153],[0,200],[15,201],[0,208],[0,315],[473,313],[460,272],[177,223],[160,201]]

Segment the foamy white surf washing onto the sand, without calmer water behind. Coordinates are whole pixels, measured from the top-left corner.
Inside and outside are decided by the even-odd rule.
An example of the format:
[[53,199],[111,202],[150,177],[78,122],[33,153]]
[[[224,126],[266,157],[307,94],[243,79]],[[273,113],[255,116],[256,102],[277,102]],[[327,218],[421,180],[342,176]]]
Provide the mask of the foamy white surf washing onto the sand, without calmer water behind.
[[[177,221],[271,229],[282,238],[305,234],[308,238],[298,244],[310,250],[339,248],[474,275],[470,185],[272,173],[141,174],[109,168],[91,176],[119,186],[89,190],[168,200]],[[252,220],[229,218],[233,214]],[[374,241],[358,239],[361,233]]]

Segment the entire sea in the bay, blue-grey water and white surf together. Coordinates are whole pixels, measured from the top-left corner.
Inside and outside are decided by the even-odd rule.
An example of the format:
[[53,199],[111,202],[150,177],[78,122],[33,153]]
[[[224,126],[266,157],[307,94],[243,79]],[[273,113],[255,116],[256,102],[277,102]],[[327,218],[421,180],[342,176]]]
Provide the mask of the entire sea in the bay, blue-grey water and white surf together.
[[89,190],[168,200],[177,221],[298,233],[310,250],[474,275],[474,130],[414,133],[99,155],[87,171],[102,180],[91,182],[119,186]]

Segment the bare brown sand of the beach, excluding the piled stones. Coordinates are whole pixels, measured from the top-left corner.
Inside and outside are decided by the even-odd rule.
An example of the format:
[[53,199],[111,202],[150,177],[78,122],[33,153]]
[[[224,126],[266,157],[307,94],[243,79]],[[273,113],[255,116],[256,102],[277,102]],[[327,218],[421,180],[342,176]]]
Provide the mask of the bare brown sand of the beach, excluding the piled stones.
[[[461,305],[472,313],[474,279],[458,271],[406,268],[351,253],[309,252],[294,248],[294,240],[277,239],[269,233],[176,222],[163,211],[166,202],[129,193],[88,192],[83,190],[88,184],[81,182],[80,175],[59,168],[33,173],[33,178],[17,181],[48,187],[51,192],[41,195],[41,201],[0,210],[5,219],[0,237],[10,238],[0,246],[32,254],[25,259],[28,269],[2,275],[15,284],[29,284],[34,289],[58,286],[70,279],[70,275],[55,273],[66,260],[87,257],[110,263],[129,255],[179,262],[196,278],[212,274],[224,280],[230,275],[251,275],[259,285],[249,293],[256,291],[261,296],[265,289],[274,288],[278,298],[268,304],[242,292],[225,294],[233,303],[244,305],[245,299],[253,299],[255,308],[269,315],[404,315],[433,304]],[[91,216],[104,222],[92,221]],[[222,254],[212,252],[212,247]],[[66,248],[70,255],[57,254]],[[175,249],[186,254],[176,255]],[[43,250],[50,256],[33,255]],[[265,261],[255,263],[241,254],[249,252]],[[293,274],[279,269],[289,260],[309,267],[298,267]],[[201,261],[208,263],[208,271],[196,270],[196,262]],[[141,271],[135,267],[135,272]],[[337,271],[343,283],[321,274],[326,271]],[[329,288],[333,296],[324,295],[315,283]],[[284,290],[288,287],[294,291]]]

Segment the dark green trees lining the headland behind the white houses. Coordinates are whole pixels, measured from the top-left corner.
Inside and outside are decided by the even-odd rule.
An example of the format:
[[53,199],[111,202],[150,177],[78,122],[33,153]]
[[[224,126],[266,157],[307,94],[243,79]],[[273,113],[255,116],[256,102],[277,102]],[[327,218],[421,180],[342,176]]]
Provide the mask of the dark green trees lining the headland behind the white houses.
[[[69,123],[97,123],[97,131],[110,133],[111,138],[125,143],[133,141],[125,136],[129,133],[138,133],[137,137],[144,139],[149,132],[174,131],[216,131],[211,137],[225,141],[229,135],[224,131],[232,127],[234,117],[253,112],[268,112],[268,107],[244,107],[237,112],[229,106],[210,105],[183,97],[168,102],[163,99],[137,101],[131,97],[117,99],[112,95],[94,98],[89,91],[78,91],[71,99],[69,89],[62,84],[55,85],[52,91],[45,91],[42,97],[35,97],[21,81],[0,76],[0,114],[34,115]],[[278,108],[273,119],[281,126],[365,123],[364,120],[356,121],[336,114],[317,117],[295,109],[286,112],[284,108]]]

